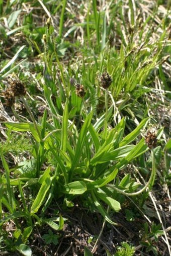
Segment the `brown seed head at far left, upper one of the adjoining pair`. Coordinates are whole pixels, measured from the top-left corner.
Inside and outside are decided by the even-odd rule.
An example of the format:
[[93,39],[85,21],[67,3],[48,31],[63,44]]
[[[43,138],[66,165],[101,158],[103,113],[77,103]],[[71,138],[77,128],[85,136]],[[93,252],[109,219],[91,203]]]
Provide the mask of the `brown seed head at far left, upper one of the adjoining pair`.
[[18,78],[10,79],[10,87],[8,90],[11,90],[14,97],[26,95],[24,84]]

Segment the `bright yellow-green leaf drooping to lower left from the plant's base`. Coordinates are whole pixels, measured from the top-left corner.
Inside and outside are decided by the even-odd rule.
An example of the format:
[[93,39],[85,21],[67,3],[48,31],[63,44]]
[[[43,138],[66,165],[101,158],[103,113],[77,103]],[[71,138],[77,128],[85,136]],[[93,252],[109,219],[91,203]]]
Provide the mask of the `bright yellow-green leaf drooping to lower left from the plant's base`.
[[36,213],[39,210],[40,206],[43,204],[43,201],[45,199],[47,192],[49,191],[50,185],[51,185],[51,179],[49,176],[46,178],[46,180],[42,183],[40,187],[40,190],[36,196],[36,199],[32,204],[31,213]]

